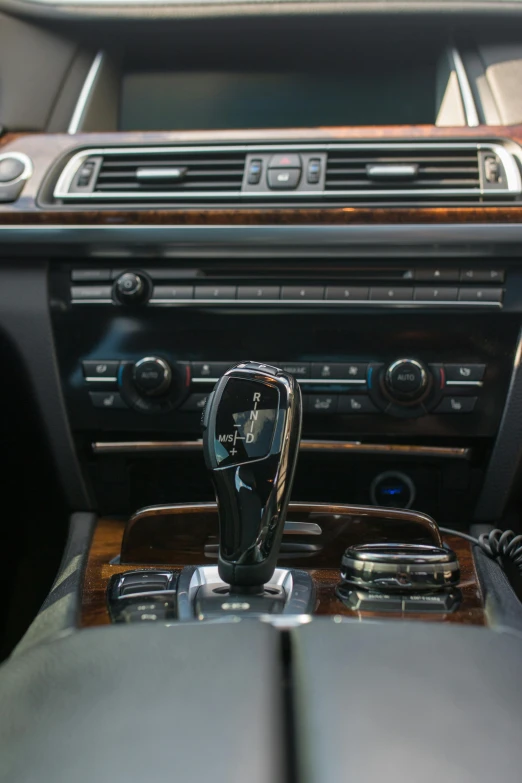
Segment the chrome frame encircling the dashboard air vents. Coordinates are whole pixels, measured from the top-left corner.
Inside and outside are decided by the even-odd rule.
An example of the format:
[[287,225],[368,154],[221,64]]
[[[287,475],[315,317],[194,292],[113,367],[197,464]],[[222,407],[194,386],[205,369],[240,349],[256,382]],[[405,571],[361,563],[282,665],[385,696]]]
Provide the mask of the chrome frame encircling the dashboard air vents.
[[[429,151],[429,150],[453,150],[453,151],[460,151],[460,150],[472,150],[478,152],[479,150],[489,150],[493,152],[494,154],[498,155],[502,159],[502,163],[504,165],[504,168],[506,169],[506,179],[507,179],[507,188],[499,188],[496,190],[485,190],[482,187],[478,188],[441,188],[441,189],[434,189],[434,188],[415,188],[415,189],[400,189],[400,190],[374,190],[371,193],[362,193],[361,190],[310,190],[310,191],[285,191],[285,192],[276,192],[276,191],[265,191],[265,192],[254,192],[254,191],[243,191],[243,190],[234,190],[234,191],[228,191],[226,193],[223,193],[223,191],[164,191],[161,193],[158,193],[157,191],[150,192],[150,191],[137,191],[130,193],[129,191],[111,191],[109,192],[96,192],[96,193],[69,193],[69,188],[71,186],[71,183],[73,182],[73,179],[77,173],[77,171],[81,168],[84,161],[90,157],[90,156],[102,156],[104,158],[111,157],[114,155],[154,155],[158,153],[163,154],[184,154],[184,153],[194,153],[194,152],[201,152],[201,153],[207,153],[207,152],[220,152],[220,153],[226,153],[226,152],[242,152],[246,154],[249,153],[256,153],[256,152],[271,152],[271,151],[277,151],[277,150],[286,150],[286,151],[322,151],[322,152],[329,152],[329,151],[350,151],[350,150],[376,150],[379,152],[387,151],[387,150],[404,150],[408,152],[412,152],[413,150],[422,150],[422,151]],[[515,188],[513,186],[513,183],[518,183],[518,188]],[[461,197],[461,196],[491,196],[493,198],[497,198],[499,196],[506,196],[506,195],[514,195],[515,193],[519,193],[522,189],[520,174],[518,172],[517,165],[514,161],[514,159],[511,158],[511,155],[502,147],[501,144],[496,143],[488,143],[488,142],[420,142],[417,143],[415,141],[412,141],[410,143],[401,143],[401,142],[389,142],[389,143],[373,143],[373,144],[350,144],[350,143],[325,143],[325,144],[274,144],[274,145],[247,145],[247,144],[241,144],[241,145],[212,145],[212,146],[198,146],[198,145],[192,145],[190,147],[166,147],[158,145],[157,147],[99,147],[99,148],[91,148],[82,150],[80,152],[77,152],[71,160],[67,163],[64,170],[62,171],[58,182],[56,184],[56,187],[54,189],[54,198],[55,199],[66,199],[70,201],[79,201],[79,200],[89,200],[89,199],[95,199],[96,201],[104,201],[109,199],[121,199],[121,200],[147,200],[147,199],[158,199],[158,197],[168,198],[168,199],[186,199],[186,200],[193,200],[193,199],[210,199],[210,200],[227,200],[227,199],[244,199],[246,202],[249,200],[255,200],[255,199],[281,199],[281,198],[287,198],[287,199],[301,199],[301,198],[323,198],[324,203],[328,203],[329,197],[337,197],[337,196],[346,196],[346,197],[358,197],[361,198],[364,196],[365,198],[383,198],[383,197],[422,197],[422,196],[455,196],[455,197]]]

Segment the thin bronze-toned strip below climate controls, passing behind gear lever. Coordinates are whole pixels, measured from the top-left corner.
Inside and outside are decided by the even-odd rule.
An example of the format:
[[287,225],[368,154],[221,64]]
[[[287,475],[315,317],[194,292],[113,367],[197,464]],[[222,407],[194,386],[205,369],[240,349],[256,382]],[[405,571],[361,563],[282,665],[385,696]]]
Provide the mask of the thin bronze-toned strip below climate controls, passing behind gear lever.
[[[185,441],[96,441],[92,443],[93,454],[140,454],[152,452],[200,451],[202,440]],[[456,446],[409,446],[403,444],[361,443],[342,440],[307,440],[300,444],[301,451],[332,453],[353,452],[355,454],[397,454],[412,457],[441,457],[470,459],[470,448]]]

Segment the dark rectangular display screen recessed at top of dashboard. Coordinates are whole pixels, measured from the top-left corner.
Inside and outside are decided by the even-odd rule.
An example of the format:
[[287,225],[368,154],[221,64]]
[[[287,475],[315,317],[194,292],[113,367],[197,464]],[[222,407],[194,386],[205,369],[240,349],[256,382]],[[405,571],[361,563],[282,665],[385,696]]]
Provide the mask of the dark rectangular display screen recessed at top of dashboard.
[[314,73],[130,73],[120,130],[232,130],[433,123],[428,64]]

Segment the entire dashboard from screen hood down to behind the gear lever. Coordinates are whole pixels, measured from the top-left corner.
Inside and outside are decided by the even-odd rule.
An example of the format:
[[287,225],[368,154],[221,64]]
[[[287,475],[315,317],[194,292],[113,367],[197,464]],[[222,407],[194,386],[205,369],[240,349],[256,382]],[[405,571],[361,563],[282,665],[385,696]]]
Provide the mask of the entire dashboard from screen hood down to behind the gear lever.
[[0,319],[67,502],[211,500],[200,413],[252,359],[303,392],[297,501],[498,520],[522,442],[518,10],[265,10],[2,12]]

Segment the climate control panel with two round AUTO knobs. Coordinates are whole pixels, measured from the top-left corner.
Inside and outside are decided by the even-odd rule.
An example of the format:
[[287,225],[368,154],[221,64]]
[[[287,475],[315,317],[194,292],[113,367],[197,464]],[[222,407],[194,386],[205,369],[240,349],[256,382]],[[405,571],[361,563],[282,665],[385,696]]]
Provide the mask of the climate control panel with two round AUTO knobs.
[[[244,358],[244,357],[243,357]],[[89,359],[83,378],[95,408],[165,414],[195,413],[236,361],[172,361],[149,355],[137,361]],[[472,413],[480,399],[485,364],[424,362],[291,362],[267,364],[292,374],[303,391],[306,414],[386,414],[402,419],[430,413]]]

